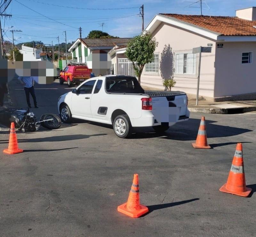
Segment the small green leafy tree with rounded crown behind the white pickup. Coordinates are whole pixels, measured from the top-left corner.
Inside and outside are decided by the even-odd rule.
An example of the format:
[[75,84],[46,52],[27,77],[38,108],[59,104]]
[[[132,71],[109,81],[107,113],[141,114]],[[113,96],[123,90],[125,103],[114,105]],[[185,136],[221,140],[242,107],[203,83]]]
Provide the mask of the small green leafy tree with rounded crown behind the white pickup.
[[154,52],[158,42],[150,33],[135,36],[127,45],[125,56],[132,61],[138,81],[146,63],[154,61]]

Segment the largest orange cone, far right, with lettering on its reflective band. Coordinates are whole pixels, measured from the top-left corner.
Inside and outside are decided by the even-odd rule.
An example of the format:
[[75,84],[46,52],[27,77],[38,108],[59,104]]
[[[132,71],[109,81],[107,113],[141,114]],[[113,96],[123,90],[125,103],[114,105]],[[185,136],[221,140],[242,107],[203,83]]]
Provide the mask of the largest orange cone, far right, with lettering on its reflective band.
[[252,189],[245,186],[242,143],[237,143],[236,145],[236,152],[229,171],[228,181],[220,188],[220,191],[243,197],[249,196],[252,192]]

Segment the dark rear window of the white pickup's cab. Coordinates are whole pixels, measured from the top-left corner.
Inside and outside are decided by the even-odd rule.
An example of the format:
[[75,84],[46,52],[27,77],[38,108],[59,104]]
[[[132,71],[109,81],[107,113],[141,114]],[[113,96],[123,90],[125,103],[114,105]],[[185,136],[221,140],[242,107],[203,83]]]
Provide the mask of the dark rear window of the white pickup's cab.
[[108,93],[142,93],[144,90],[138,80],[132,77],[106,78],[106,91]]

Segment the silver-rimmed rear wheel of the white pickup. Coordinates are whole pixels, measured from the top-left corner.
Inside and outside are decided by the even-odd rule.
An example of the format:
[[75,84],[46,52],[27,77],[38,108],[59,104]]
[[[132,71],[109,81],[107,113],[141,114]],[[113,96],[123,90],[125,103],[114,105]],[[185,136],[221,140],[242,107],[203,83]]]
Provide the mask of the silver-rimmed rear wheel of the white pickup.
[[117,137],[127,138],[132,134],[132,125],[128,115],[117,115],[113,122],[113,129]]

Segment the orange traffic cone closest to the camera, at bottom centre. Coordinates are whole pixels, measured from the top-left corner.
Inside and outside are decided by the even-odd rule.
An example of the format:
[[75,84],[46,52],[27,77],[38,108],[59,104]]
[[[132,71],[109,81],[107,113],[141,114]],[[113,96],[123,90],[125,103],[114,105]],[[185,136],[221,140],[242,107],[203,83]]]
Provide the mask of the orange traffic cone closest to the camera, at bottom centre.
[[148,212],[148,208],[146,206],[140,205],[138,174],[134,174],[133,176],[132,188],[127,203],[118,206],[117,211],[133,218],[140,217]]

